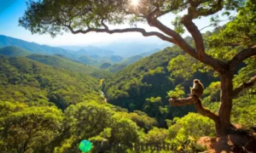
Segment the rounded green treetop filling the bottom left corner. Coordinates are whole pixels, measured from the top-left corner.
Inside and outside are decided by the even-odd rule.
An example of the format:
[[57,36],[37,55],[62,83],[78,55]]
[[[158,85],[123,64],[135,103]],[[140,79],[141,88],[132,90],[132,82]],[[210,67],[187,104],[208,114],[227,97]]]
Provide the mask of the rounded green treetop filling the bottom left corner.
[[0,149],[3,152],[52,150],[53,140],[61,132],[63,113],[60,110],[56,107],[28,107],[25,104],[20,107],[20,104],[3,101],[0,105],[1,111],[6,111],[0,116],[0,138],[3,140]]

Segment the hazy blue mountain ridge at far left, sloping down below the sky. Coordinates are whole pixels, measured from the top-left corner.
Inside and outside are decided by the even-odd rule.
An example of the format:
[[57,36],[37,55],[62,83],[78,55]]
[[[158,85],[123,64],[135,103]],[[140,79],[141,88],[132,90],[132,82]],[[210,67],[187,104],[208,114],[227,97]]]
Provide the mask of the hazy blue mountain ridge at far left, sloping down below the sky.
[[26,42],[14,37],[6,37],[0,35],[0,47],[16,46],[26,49],[34,54],[64,54],[66,56],[73,56],[73,52],[67,51],[63,48],[55,48],[47,45],[40,45],[35,42]]

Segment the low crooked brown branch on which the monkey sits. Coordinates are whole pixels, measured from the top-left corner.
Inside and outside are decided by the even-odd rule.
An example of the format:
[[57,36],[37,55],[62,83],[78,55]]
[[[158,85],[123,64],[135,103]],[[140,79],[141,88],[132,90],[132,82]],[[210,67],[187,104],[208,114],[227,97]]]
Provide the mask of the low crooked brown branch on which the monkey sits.
[[194,104],[196,110],[203,116],[207,116],[212,119],[213,122],[218,123],[218,115],[209,109],[205,108],[203,105],[201,105],[201,99],[198,99],[197,97],[189,97],[186,99],[169,99],[170,105],[173,106],[180,106],[180,105],[190,105]]

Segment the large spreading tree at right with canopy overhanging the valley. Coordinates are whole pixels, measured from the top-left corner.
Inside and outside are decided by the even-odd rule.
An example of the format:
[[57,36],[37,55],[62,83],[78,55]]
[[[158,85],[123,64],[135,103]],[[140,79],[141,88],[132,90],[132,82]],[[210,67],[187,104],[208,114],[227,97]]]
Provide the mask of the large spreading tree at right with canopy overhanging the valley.
[[[237,27],[236,30],[238,31],[231,31],[233,32],[232,36],[228,35],[230,31],[226,35],[223,34],[223,40],[219,42],[222,42],[222,44],[226,42],[225,44],[231,45],[233,47],[232,50],[236,48],[236,51],[232,51],[233,54],[230,54],[230,59],[224,59],[206,52],[201,31],[195,26],[194,21],[201,17],[217,14],[221,10],[224,10],[225,14],[229,14],[230,10],[238,12],[246,6],[246,2],[243,0],[139,0],[137,4],[132,2],[131,0],[29,1],[26,13],[20,18],[20,26],[32,31],[32,33],[49,33],[52,37],[65,31],[71,31],[73,34],[86,34],[92,31],[107,32],[109,34],[140,32],[144,37],[154,36],[163,41],[174,43],[182,48],[186,54],[218,72],[221,82],[221,102],[218,115],[202,107],[196,97],[170,99],[170,103],[172,105],[195,104],[202,115],[210,117],[215,122],[217,135],[224,135],[227,129],[234,127],[230,122],[232,99],[243,88],[251,87],[256,82],[256,77],[253,77],[249,82],[242,83],[236,88],[233,88],[232,82],[238,65],[244,59],[256,54],[256,48],[253,46],[255,45],[255,41],[253,41],[255,31],[250,31],[250,29],[247,31],[242,27]],[[250,3],[250,1],[247,3]],[[179,16],[178,13],[181,11],[186,13]],[[250,9],[249,11],[255,14],[255,9]],[[174,28],[164,25],[159,20],[160,16],[169,14],[177,15],[172,21]],[[243,19],[240,20],[242,21]],[[253,23],[253,19],[247,20]],[[148,23],[149,26],[153,26],[159,31],[146,31],[143,28],[138,28],[137,23],[139,22]],[[110,29],[108,27],[109,25],[116,26],[125,23],[129,23],[131,26],[125,29]],[[236,26],[237,23],[235,23]],[[182,37],[184,31],[188,31],[191,34],[195,47],[184,40]],[[234,41],[229,42],[226,37]],[[239,37],[246,37],[246,40],[248,38],[252,39],[252,41],[240,43],[240,41],[244,40],[239,39]],[[218,51],[222,53],[221,49]]]

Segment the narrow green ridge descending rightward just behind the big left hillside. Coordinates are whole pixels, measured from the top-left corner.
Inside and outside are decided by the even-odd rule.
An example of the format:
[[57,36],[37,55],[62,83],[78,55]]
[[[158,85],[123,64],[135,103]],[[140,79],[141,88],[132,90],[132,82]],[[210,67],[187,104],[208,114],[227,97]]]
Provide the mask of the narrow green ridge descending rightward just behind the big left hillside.
[[50,55],[41,55],[41,54],[32,54],[27,56],[29,59],[36,60],[45,65],[52,65],[58,68],[66,69],[68,71],[75,71],[84,74],[90,74],[93,77],[102,78],[110,75],[108,71],[100,70],[96,67],[90,65],[84,65],[82,63],[64,59],[60,56],[50,56]]

